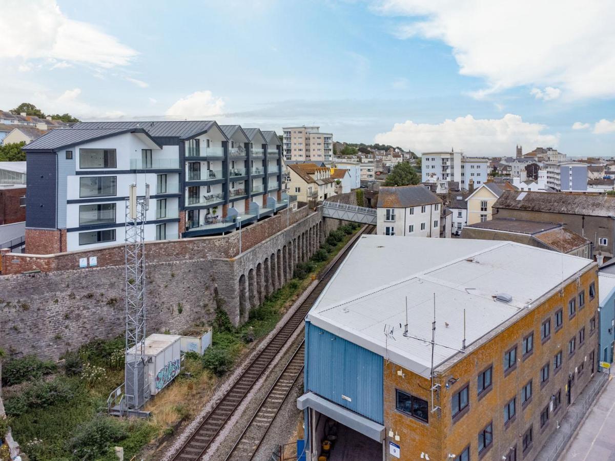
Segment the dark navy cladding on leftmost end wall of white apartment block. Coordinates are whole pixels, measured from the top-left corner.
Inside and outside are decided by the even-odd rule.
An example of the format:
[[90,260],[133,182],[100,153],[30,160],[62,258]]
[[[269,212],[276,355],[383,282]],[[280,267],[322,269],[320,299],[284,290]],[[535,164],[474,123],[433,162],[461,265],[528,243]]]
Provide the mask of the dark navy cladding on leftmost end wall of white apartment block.
[[26,227],[56,229],[56,156],[52,152],[28,152],[26,168]]

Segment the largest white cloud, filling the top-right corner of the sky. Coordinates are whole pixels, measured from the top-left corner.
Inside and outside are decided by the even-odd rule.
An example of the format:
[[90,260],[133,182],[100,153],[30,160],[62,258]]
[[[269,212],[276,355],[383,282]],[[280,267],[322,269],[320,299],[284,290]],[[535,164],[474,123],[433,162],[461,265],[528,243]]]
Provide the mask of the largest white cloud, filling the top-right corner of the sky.
[[478,97],[522,85],[557,87],[571,99],[615,97],[615,2],[373,2],[380,14],[411,17],[400,38],[450,45],[459,73],[485,79]]

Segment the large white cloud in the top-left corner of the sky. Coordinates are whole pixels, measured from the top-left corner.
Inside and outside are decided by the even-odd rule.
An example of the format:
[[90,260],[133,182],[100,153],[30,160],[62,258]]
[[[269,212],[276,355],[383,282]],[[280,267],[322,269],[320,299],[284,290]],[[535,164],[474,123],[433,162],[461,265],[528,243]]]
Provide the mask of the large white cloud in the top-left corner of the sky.
[[0,58],[47,59],[111,68],[137,52],[95,26],[69,19],[55,0],[4,0]]

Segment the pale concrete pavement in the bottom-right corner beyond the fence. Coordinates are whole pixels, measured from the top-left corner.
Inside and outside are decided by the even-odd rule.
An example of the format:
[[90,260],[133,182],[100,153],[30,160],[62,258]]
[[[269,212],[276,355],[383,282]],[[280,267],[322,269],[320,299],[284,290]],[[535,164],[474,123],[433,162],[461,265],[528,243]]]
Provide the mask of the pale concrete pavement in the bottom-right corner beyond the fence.
[[561,461],[615,461],[615,384],[611,377]]

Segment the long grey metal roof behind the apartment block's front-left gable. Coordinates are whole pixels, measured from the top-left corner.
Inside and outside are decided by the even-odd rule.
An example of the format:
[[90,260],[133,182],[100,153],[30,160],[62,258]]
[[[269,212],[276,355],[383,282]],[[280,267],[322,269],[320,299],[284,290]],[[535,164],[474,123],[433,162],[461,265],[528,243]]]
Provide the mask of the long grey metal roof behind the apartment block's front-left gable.
[[73,128],[82,130],[84,128],[143,128],[154,138],[180,138],[188,139],[192,136],[204,133],[215,124],[213,120],[169,120],[158,122],[79,122]]

